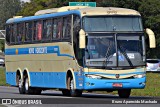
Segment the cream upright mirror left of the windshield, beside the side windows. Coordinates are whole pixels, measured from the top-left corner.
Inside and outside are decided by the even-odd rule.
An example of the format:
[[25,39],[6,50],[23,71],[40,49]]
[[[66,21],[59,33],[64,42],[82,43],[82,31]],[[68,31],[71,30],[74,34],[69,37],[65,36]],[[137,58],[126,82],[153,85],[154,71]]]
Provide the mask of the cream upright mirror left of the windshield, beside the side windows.
[[85,43],[86,43],[86,37],[85,37],[85,32],[83,29],[79,31],[79,48],[85,48]]

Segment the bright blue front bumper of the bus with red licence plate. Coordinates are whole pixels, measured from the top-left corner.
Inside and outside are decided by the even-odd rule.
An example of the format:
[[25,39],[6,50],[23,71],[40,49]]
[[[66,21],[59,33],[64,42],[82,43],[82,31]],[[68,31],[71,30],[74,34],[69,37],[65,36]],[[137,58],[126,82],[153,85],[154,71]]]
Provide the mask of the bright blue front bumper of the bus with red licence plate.
[[[92,79],[85,77],[85,90],[105,89],[143,89],[145,88],[146,77],[134,79]],[[117,84],[117,85],[115,85]]]

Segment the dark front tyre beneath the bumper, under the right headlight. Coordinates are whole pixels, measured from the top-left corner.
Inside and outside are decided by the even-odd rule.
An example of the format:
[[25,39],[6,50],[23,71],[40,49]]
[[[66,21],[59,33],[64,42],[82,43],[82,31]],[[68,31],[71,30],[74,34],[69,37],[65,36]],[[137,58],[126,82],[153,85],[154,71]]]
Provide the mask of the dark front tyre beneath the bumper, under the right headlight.
[[118,90],[118,95],[120,98],[129,98],[130,94],[131,94],[131,89]]

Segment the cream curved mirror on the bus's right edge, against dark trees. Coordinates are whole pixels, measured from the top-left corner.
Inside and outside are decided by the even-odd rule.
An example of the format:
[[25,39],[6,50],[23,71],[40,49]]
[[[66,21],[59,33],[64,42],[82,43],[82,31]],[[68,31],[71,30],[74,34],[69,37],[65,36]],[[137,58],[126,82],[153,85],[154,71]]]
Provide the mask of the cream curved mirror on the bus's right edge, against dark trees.
[[155,39],[154,32],[151,29],[147,28],[146,33],[149,36],[149,47],[150,48],[155,48],[156,47],[156,39]]

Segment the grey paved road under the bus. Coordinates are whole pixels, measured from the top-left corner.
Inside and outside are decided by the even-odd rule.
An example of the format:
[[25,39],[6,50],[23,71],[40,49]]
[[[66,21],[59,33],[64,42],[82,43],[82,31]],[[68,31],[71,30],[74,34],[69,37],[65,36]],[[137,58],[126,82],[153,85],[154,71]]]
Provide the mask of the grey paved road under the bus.
[[[22,95],[22,94],[19,94],[18,88],[4,87],[4,86],[0,86],[0,100],[2,100],[1,98],[5,98],[5,99],[12,98],[12,101],[14,99],[15,101],[19,99],[23,101],[25,100],[41,101],[42,100],[40,103],[54,104],[54,106],[56,107],[61,107],[61,106],[74,107],[75,105],[77,105],[78,107],[82,107],[84,105],[86,107],[86,104],[88,104],[87,105],[88,107],[97,107],[97,106],[106,107],[106,105],[108,104],[111,107],[116,107],[116,106],[125,107],[127,106],[125,104],[127,102],[134,103],[134,104],[129,104],[131,107],[132,105],[133,107],[136,105],[138,107],[150,107],[152,105],[151,103],[153,102],[159,103],[159,104],[155,104],[154,107],[160,106],[160,98],[153,98],[153,97],[132,97],[131,96],[129,99],[121,99],[117,95],[111,95],[111,94],[106,95],[106,94],[95,94],[95,93],[83,93],[82,97],[66,97],[66,96],[63,96],[60,91],[53,91],[53,90],[43,91],[42,95]],[[41,98],[44,98],[44,99],[41,99]],[[148,104],[148,102],[150,102],[150,104]],[[13,105],[13,107],[14,106],[17,107],[20,105]],[[21,106],[27,107],[27,105],[21,105]],[[40,107],[40,106],[43,107],[44,105],[34,105],[33,107]],[[53,106],[53,105],[47,105],[47,106]],[[11,106],[9,105],[9,107]]]

